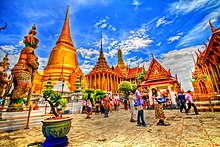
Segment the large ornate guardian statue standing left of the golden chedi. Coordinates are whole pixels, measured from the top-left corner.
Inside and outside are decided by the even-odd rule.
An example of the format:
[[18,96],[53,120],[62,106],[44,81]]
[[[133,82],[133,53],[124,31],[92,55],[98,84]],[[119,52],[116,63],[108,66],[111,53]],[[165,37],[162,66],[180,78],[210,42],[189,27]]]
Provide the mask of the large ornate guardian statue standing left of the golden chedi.
[[[18,63],[12,69],[12,78],[14,89],[7,111],[22,111],[24,98],[30,97],[34,71],[38,69],[38,57],[34,50],[38,47],[39,40],[35,37],[37,34],[36,25],[24,37],[25,47],[20,52]],[[28,101],[28,100],[27,100]]]

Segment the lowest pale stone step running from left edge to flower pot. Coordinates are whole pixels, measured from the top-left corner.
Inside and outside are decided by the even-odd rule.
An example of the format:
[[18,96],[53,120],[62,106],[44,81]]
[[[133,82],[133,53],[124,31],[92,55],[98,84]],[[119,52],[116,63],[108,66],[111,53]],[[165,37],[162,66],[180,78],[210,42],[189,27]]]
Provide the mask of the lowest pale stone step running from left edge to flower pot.
[[[41,122],[35,122],[29,124],[29,127],[36,127],[36,126],[41,126]],[[15,131],[19,129],[25,129],[26,124],[20,124],[20,125],[15,125],[15,126],[6,126],[6,127],[0,127],[0,132],[6,132],[6,131]]]

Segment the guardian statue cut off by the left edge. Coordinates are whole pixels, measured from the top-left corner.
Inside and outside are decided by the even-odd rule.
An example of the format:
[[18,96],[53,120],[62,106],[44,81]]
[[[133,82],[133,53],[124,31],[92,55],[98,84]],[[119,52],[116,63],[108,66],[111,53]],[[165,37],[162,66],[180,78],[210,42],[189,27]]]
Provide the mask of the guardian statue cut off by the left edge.
[[11,88],[10,77],[7,76],[7,70],[10,64],[8,63],[8,54],[5,56],[2,62],[0,62],[0,99],[3,100],[2,106],[5,104],[5,98]]

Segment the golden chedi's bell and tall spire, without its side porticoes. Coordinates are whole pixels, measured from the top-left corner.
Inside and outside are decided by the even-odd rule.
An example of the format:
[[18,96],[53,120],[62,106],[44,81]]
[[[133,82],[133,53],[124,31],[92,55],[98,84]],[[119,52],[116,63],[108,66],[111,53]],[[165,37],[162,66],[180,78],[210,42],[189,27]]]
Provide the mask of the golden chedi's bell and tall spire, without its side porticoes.
[[[66,17],[62,31],[56,42],[55,47],[50,53],[46,68],[44,69],[44,81],[51,77],[52,85],[62,79],[71,89],[70,74],[75,73],[78,65],[76,48],[72,42],[69,25],[69,6],[66,11]],[[51,75],[51,76],[50,76]]]

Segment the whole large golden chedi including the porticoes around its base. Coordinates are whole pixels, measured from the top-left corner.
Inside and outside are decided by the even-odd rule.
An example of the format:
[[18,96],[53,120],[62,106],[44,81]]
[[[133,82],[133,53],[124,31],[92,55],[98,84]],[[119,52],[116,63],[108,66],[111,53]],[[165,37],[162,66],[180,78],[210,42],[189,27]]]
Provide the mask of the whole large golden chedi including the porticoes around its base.
[[84,88],[86,88],[86,78],[78,65],[76,48],[74,47],[71,38],[68,6],[63,29],[55,47],[50,53],[47,66],[43,73],[37,72],[35,74],[34,92],[39,93],[45,89],[45,84],[47,83],[48,78],[51,78],[53,86],[59,82],[67,85],[68,89],[73,91],[75,89],[74,84],[77,76],[81,77],[81,82]]

